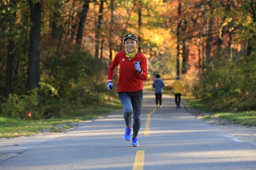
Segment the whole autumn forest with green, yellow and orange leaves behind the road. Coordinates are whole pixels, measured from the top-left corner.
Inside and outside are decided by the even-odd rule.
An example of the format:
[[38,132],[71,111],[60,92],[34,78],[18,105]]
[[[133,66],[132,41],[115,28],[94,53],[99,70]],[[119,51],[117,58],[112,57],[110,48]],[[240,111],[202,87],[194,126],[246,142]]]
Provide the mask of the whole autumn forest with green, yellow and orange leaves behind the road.
[[130,32],[149,80],[181,75],[186,95],[213,110],[255,111],[255,0],[0,0],[0,116],[111,104],[108,66]]

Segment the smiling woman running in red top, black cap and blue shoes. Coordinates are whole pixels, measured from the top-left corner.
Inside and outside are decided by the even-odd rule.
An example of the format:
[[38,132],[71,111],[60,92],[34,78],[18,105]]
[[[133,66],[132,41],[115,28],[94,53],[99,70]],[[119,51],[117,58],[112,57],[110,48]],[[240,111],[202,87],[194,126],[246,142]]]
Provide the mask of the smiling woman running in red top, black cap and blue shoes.
[[[116,54],[109,66],[107,90],[113,87],[113,73],[119,64],[119,77],[117,92],[124,109],[125,134],[123,139],[131,141],[132,146],[139,146],[138,132],[141,127],[141,112],[143,102],[142,80],[147,79],[146,57],[136,49],[138,46],[137,37],[134,34],[127,34],[123,43],[125,50]],[[133,134],[131,136],[131,118],[133,114]]]

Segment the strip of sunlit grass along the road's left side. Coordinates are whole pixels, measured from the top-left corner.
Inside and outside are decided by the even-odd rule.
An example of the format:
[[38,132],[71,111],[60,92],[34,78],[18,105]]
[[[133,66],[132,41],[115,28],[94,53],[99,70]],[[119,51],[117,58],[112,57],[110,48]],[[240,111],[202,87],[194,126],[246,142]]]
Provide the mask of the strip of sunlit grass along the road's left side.
[[[17,118],[0,117],[0,138],[27,136],[40,133],[62,132],[79,125],[83,121],[106,115],[110,111],[122,109],[121,103],[116,102],[105,106],[88,109],[90,112],[75,118],[55,118],[47,120],[22,120]],[[33,113],[32,116],[33,117]]]

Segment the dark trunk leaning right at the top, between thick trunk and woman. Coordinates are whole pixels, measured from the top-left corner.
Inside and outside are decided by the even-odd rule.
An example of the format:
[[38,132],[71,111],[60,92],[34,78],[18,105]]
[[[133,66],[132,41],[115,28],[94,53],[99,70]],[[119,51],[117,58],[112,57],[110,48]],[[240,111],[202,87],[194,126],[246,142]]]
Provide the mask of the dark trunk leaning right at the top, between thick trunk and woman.
[[90,0],[85,0],[85,3],[83,4],[83,9],[80,13],[80,21],[79,21],[79,25],[78,25],[78,30],[77,30],[77,39],[76,39],[76,44],[81,47],[81,43],[82,43],[82,37],[83,37],[83,27],[86,21],[86,15],[87,15],[87,11],[89,9],[89,3]]

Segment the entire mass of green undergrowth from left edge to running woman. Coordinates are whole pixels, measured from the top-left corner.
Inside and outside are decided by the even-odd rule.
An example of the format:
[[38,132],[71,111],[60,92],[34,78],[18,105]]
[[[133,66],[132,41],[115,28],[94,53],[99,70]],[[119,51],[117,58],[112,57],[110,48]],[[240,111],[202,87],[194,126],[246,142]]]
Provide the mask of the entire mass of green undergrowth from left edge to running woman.
[[[50,57],[42,53],[42,63],[47,64],[42,66],[40,89],[10,94],[0,106],[0,115],[22,119],[84,116],[90,113],[90,105],[102,106],[111,96],[104,81],[106,64],[88,53],[62,50]],[[29,112],[32,117],[27,116]]]

